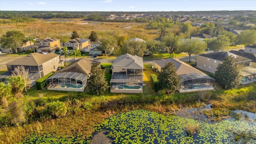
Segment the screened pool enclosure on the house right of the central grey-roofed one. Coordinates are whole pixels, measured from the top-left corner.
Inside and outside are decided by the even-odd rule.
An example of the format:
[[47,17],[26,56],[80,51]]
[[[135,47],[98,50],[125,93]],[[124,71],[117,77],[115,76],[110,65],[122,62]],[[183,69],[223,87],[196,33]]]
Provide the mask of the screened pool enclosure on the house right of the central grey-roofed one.
[[213,90],[215,80],[202,73],[180,74],[181,78],[179,92],[196,92],[202,90]]

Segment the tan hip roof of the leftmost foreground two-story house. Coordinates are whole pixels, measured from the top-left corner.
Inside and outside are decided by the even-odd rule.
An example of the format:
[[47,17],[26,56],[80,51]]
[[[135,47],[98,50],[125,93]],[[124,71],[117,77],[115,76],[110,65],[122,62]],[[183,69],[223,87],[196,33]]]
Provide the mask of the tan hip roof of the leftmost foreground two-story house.
[[58,57],[58,54],[52,52],[48,54],[40,54],[38,52],[32,53],[28,56],[24,56],[12,62],[9,62],[8,65],[19,65],[19,66],[39,66],[44,62],[47,62],[53,58]]

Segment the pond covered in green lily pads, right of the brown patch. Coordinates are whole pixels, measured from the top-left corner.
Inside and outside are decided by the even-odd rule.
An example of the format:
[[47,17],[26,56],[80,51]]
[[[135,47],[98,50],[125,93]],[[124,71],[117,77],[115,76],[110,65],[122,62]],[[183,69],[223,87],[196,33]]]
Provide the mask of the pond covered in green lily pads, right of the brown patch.
[[[256,123],[236,120],[222,120],[214,124],[200,123],[197,134],[190,136],[186,126],[200,122],[158,114],[147,110],[134,110],[116,114],[106,119],[98,131],[106,130],[112,143],[126,144],[185,144],[185,143],[256,143]],[[239,137],[241,134],[245,136]]]

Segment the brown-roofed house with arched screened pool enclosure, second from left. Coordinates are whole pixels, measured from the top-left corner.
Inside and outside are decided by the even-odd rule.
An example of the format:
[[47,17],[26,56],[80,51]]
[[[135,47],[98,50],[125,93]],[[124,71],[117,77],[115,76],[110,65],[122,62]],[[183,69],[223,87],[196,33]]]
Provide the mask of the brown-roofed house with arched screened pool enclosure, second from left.
[[46,80],[47,89],[83,92],[93,64],[100,66],[100,62],[91,58],[84,57],[75,60]]

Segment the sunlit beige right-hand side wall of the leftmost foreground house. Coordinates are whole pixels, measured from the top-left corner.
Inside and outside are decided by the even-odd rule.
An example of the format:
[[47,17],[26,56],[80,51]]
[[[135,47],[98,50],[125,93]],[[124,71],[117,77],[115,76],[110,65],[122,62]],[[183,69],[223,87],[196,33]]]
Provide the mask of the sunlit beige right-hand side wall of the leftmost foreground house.
[[[51,60],[49,60],[49,61],[47,61],[47,62],[42,64],[43,70],[44,70],[44,76],[46,74],[49,74],[52,71],[55,72],[57,70],[57,68],[59,66],[59,62],[60,62],[60,57],[57,56],[55,58],[53,58],[53,59],[51,59]],[[52,63],[51,63],[51,61],[52,61]],[[54,69],[54,66],[55,66],[55,69]]]

